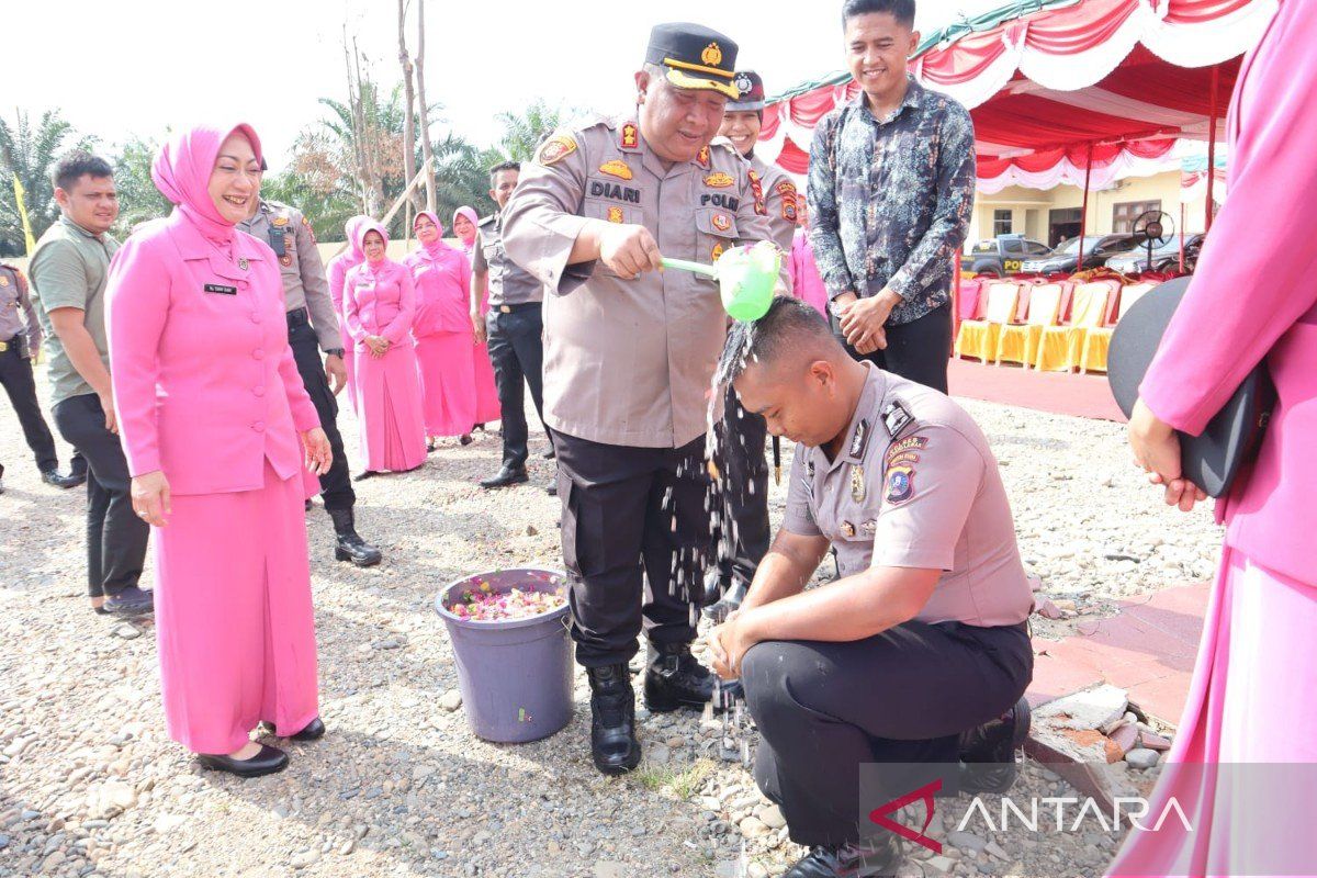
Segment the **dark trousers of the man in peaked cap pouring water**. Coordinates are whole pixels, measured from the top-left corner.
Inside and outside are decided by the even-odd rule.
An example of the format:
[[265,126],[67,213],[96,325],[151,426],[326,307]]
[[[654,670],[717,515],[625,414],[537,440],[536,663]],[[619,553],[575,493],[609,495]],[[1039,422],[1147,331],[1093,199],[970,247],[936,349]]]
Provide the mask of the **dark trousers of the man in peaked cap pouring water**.
[[630,661],[641,627],[652,644],[693,641],[712,540],[703,437],[660,449],[554,432],[553,445],[577,661]]

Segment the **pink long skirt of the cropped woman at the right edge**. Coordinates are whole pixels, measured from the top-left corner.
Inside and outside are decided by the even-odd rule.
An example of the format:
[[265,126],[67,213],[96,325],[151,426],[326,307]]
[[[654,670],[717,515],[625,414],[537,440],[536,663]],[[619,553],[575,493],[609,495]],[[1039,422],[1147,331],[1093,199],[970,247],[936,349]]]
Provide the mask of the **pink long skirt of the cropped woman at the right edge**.
[[1130,829],[1108,874],[1317,874],[1314,763],[1317,583],[1226,546],[1144,829]]

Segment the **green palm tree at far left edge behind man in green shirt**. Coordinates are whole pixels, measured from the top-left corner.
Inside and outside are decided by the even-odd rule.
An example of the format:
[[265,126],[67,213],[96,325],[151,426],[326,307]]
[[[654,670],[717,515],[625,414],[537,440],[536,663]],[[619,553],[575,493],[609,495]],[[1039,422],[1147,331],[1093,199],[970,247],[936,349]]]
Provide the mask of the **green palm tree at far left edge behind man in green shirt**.
[[40,238],[59,216],[54,184],[50,182],[55,162],[70,149],[92,149],[96,145],[95,138],[75,141],[74,137],[74,126],[55,109],[43,112],[36,125],[24,112],[16,113],[12,126],[0,118],[0,172],[4,176],[0,180],[0,254],[17,255],[26,249],[22,220],[13,197],[14,175],[26,190],[24,203],[28,205],[32,234]]

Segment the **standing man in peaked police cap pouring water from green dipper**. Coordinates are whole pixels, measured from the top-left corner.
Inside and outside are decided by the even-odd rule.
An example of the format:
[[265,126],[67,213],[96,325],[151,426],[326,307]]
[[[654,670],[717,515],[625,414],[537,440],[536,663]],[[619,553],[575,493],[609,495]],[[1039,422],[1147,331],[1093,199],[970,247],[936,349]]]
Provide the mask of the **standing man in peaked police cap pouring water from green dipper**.
[[690,642],[712,542],[705,430],[727,315],[712,280],[661,259],[707,263],[769,240],[749,165],[711,143],[739,95],[735,63],[720,33],[656,26],[633,113],[551,137],[506,208],[508,255],[545,284],[544,416],[591,753],[606,774],[640,761],[627,663],[641,627],[651,711],[699,710],[712,695]]

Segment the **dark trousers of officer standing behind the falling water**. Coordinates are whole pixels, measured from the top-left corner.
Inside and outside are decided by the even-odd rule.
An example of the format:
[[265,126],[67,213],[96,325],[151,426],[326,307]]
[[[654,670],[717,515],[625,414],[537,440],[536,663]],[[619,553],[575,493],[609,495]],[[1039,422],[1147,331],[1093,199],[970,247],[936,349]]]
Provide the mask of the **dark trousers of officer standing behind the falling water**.
[[747,412],[736,391],[727,387],[726,416],[718,425],[718,571],[723,579],[748,586],[772,538],[768,524],[768,423]]

